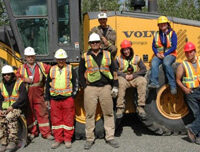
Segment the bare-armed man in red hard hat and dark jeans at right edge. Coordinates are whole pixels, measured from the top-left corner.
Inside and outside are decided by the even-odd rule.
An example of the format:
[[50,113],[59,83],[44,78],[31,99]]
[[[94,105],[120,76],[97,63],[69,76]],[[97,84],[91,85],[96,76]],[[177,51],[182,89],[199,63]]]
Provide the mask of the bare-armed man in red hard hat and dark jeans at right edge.
[[196,47],[187,42],[184,46],[187,60],[177,68],[176,82],[185,94],[185,101],[193,112],[195,120],[186,126],[191,142],[200,145],[200,57],[196,56]]

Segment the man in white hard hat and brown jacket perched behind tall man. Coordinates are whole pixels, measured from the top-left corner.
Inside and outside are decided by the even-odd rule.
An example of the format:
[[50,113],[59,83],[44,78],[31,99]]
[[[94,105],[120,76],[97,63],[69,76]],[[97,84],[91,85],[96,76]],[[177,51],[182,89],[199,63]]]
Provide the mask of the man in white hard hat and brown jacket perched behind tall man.
[[99,34],[101,38],[101,48],[103,50],[108,50],[111,52],[112,57],[115,57],[117,53],[117,48],[115,46],[116,41],[116,32],[111,28],[110,25],[107,25],[108,16],[106,13],[101,12],[98,14],[99,26],[93,27],[90,31],[91,33]]

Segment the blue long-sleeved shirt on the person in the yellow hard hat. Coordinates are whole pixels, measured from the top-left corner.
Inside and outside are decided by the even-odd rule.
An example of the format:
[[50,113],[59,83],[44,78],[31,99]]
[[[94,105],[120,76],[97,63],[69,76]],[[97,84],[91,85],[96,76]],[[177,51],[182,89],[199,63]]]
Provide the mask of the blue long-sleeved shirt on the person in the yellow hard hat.
[[[160,36],[160,40],[163,44],[163,46],[167,46],[167,37],[166,34],[169,34],[170,31],[172,31],[172,29],[169,29],[169,31],[167,33],[163,33],[162,31],[159,31],[159,36]],[[152,49],[154,51],[154,54],[156,55],[158,53],[156,44],[155,44],[155,38],[153,39],[153,43],[152,43]],[[172,37],[171,37],[171,48],[164,52],[164,56],[169,55],[170,53],[172,53],[174,50],[176,50],[177,48],[177,35],[176,33],[173,31],[172,33]]]

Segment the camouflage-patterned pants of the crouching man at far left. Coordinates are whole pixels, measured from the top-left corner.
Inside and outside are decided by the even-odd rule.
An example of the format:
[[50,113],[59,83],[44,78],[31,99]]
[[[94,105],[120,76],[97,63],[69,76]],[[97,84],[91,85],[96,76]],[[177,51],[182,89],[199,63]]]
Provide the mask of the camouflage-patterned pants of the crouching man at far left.
[[0,144],[7,145],[10,142],[17,143],[18,123],[17,118],[21,110],[14,109],[6,114],[3,110],[3,116],[0,116]]

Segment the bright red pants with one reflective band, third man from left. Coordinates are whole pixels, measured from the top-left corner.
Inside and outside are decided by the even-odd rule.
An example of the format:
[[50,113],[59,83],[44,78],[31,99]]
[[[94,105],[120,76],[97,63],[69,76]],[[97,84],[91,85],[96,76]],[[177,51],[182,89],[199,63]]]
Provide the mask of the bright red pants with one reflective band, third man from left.
[[55,141],[71,141],[74,134],[74,99],[51,100],[51,122]]

